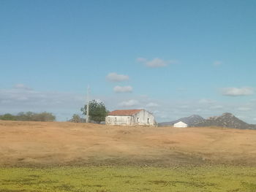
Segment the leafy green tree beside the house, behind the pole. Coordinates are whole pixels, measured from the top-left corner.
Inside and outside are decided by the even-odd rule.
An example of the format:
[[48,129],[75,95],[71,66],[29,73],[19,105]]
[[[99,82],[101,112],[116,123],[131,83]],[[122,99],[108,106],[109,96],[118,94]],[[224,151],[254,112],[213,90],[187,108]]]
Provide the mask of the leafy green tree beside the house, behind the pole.
[[[81,108],[83,115],[86,115],[87,104]],[[108,114],[105,104],[103,102],[97,102],[95,100],[89,101],[89,120],[94,120],[97,123],[105,121],[105,117]]]

